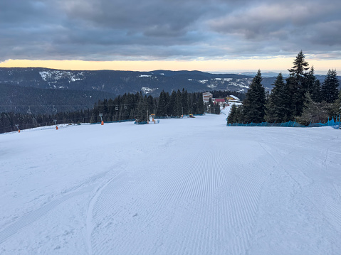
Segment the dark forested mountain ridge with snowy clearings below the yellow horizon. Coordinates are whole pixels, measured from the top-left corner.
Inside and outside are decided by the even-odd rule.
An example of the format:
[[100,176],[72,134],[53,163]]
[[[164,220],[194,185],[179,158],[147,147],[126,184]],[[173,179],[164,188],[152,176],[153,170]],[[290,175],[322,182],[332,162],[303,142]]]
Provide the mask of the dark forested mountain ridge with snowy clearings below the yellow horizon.
[[[187,92],[214,90],[246,92],[254,75],[213,74],[200,71],[154,70],[56,70],[43,67],[0,67],[0,112],[39,113],[92,107],[99,99],[125,93],[143,92],[158,97],[160,92],[187,89]],[[276,73],[274,73],[276,75]],[[322,82],[324,76],[316,75]],[[263,77],[263,86],[272,89],[276,77]],[[64,107],[68,106],[68,107]]]

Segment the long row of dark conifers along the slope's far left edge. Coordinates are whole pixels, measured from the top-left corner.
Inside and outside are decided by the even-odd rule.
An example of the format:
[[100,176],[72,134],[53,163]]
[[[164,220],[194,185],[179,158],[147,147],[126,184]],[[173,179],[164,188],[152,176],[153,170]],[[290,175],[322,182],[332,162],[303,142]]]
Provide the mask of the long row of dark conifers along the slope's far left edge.
[[179,117],[187,114],[204,114],[205,110],[201,92],[188,93],[185,89],[182,91],[178,89],[169,94],[169,92],[162,91],[157,98],[144,95],[142,92],[125,93],[115,99],[98,100],[93,109],[75,112],[56,114],[2,112],[0,113],[0,133],[49,126],[55,124],[55,121],[57,124],[97,123],[102,120],[144,122],[149,119],[150,114],[159,117]]

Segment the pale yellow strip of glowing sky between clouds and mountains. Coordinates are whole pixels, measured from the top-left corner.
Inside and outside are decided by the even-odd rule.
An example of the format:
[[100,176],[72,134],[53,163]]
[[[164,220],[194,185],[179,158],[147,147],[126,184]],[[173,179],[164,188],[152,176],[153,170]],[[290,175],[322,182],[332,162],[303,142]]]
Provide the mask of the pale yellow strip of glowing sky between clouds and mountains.
[[[61,70],[199,70],[219,72],[229,70],[288,70],[294,58],[251,58],[242,60],[150,60],[150,61],[83,61],[83,60],[6,60],[0,67],[46,67]],[[341,70],[340,60],[306,58],[310,67],[326,72]]]

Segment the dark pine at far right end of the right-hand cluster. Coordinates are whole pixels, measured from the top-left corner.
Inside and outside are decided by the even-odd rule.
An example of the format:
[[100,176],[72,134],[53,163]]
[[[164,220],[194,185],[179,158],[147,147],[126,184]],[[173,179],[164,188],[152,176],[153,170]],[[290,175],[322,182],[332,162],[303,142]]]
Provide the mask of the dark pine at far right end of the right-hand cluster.
[[337,99],[339,80],[336,70],[328,70],[325,81],[322,83],[321,95],[322,101],[333,103]]

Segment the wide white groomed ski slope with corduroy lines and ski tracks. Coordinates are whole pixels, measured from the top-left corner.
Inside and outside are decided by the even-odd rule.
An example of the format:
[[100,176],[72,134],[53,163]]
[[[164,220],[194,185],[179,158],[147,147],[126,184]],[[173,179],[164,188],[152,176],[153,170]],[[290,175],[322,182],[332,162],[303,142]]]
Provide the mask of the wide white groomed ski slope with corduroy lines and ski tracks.
[[0,254],[341,254],[340,130],[226,115],[1,134]]

